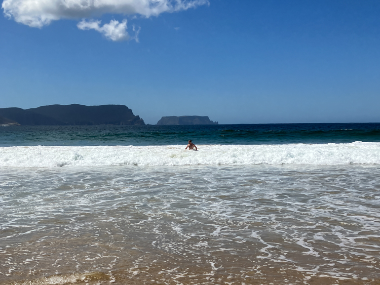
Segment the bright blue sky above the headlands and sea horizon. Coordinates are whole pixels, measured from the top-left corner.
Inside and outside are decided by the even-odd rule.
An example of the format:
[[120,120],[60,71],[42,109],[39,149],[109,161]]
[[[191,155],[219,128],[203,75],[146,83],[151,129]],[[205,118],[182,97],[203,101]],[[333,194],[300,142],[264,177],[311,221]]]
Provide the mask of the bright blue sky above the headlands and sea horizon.
[[4,0],[0,16],[2,108],[123,104],[148,124],[380,121],[377,0],[202,0],[160,12],[124,0],[49,10],[50,23],[39,20],[47,10],[12,8],[23,1]]

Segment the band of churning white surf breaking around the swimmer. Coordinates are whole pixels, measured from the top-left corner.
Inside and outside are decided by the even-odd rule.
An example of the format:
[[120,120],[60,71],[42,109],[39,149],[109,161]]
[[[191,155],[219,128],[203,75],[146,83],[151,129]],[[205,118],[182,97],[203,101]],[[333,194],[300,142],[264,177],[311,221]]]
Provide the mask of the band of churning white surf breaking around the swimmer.
[[380,143],[0,147],[0,167],[380,164]]

